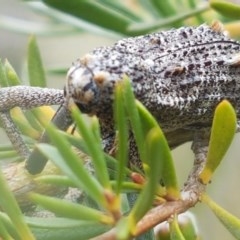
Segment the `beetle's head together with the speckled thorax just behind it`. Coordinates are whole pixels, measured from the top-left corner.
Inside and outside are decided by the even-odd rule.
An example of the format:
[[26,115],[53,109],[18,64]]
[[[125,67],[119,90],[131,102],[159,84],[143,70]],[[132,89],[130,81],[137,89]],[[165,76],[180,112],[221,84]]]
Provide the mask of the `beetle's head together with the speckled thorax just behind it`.
[[154,62],[140,53],[126,53],[124,46],[120,41],[78,59],[67,74],[66,101],[72,99],[84,113],[107,118],[112,113],[115,85],[124,75],[131,79],[135,96],[142,99],[147,90],[142,86]]

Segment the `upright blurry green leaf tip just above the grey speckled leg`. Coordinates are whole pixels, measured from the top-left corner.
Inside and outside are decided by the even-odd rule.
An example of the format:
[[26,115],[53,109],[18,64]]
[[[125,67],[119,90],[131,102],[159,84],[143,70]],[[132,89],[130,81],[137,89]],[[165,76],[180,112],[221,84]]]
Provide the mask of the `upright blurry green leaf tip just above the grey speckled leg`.
[[45,72],[35,36],[28,44],[28,75],[31,86],[46,87]]

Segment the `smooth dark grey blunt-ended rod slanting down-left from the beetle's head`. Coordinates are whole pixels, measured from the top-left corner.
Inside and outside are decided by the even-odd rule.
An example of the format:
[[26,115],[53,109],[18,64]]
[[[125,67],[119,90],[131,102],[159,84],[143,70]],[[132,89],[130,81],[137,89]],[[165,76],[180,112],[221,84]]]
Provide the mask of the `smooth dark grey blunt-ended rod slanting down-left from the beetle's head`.
[[[52,123],[60,130],[67,130],[68,127],[72,124],[72,118],[69,110],[66,108],[65,104],[59,107],[58,111],[55,113]],[[48,143],[49,138],[47,133],[44,132],[40,142]],[[26,160],[26,169],[30,174],[38,174],[45,167],[48,159],[40,154],[39,150],[35,148],[29,158]]]

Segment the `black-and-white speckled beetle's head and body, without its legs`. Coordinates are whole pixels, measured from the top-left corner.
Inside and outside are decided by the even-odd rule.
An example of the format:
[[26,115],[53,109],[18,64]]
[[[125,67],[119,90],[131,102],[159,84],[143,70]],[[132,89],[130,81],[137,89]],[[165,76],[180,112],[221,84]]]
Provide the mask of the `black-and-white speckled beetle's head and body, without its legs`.
[[240,43],[219,24],[123,39],[73,64],[66,97],[83,112],[111,122],[114,85],[126,74],[137,99],[166,133],[208,126],[222,99],[239,114],[239,53]]

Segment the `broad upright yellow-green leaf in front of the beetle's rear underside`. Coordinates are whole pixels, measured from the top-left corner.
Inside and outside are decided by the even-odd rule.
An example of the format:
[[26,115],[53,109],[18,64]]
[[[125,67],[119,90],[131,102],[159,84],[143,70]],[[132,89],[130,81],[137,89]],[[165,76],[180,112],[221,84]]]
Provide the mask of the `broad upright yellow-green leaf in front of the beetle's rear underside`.
[[207,184],[222,161],[236,132],[237,118],[232,105],[223,100],[216,108],[206,165],[199,175],[202,183]]

